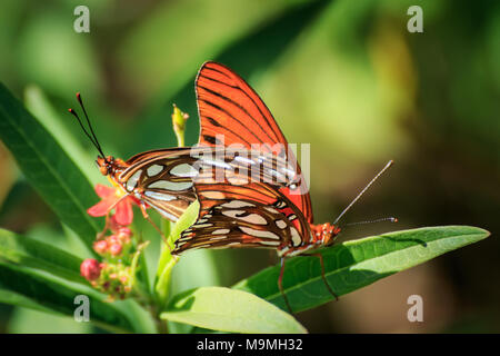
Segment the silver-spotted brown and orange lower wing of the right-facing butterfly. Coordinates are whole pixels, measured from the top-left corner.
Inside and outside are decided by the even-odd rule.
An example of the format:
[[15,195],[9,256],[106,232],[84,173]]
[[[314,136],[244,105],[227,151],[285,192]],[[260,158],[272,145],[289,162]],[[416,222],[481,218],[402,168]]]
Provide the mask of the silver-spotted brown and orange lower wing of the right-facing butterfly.
[[309,224],[277,189],[260,182],[194,186],[201,205],[199,219],[181,234],[172,254],[197,248],[260,247],[284,256],[312,247]]

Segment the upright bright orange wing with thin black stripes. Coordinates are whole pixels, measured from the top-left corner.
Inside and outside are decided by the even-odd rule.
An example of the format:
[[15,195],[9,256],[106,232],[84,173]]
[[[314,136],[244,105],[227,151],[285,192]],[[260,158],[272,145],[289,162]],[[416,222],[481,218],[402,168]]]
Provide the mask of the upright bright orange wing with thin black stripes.
[[[281,191],[298,206],[308,222],[312,222],[307,182],[293,152],[288,149],[287,139],[257,92],[231,69],[211,61],[201,67],[196,90],[200,117],[199,144],[237,144],[247,149],[254,149],[254,145],[259,145],[262,151],[284,157],[296,167],[299,184],[282,188]],[[219,137],[223,137],[223,141]]]

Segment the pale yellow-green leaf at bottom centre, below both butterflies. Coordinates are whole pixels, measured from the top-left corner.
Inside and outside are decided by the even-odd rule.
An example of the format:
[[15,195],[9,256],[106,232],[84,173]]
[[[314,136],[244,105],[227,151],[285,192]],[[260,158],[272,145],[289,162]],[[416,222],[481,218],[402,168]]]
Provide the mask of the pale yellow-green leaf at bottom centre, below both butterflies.
[[250,293],[201,287],[179,295],[161,318],[230,333],[307,333],[291,315]]

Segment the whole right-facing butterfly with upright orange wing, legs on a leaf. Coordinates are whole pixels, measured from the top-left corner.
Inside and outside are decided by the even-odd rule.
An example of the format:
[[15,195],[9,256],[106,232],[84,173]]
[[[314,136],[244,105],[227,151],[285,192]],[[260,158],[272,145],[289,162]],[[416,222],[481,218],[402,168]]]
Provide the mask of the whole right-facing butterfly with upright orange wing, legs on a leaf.
[[[282,275],[287,257],[330,246],[340,233],[340,217],[361,197],[373,181],[391,165],[390,161],[358,195],[333,224],[313,224],[311,200],[288,142],[270,110],[256,91],[228,67],[206,62],[199,71],[197,100],[200,116],[200,144],[208,146],[242,145],[283,157],[296,167],[294,184],[273,187],[262,181],[233,185],[214,182],[207,176],[193,179],[194,192],[200,201],[197,221],[181,233],[174,243],[173,255],[198,248],[256,247],[273,248],[281,258],[278,280],[283,293]],[[256,148],[259,147],[259,148]],[[324,278],[322,257],[320,258]]]

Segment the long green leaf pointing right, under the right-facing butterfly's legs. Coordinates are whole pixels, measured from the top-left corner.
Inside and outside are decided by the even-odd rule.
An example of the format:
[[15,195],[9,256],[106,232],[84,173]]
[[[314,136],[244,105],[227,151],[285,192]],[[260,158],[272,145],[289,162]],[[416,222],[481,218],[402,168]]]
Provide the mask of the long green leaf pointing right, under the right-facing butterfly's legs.
[[[341,296],[489,235],[469,226],[424,227],[347,241],[318,253],[323,256],[328,284]],[[278,287],[279,273],[280,266],[267,268],[233,288],[253,293],[287,309]],[[314,256],[287,260],[283,289],[294,313],[333,299],[321,278],[319,258]]]

